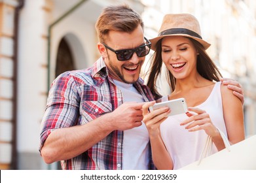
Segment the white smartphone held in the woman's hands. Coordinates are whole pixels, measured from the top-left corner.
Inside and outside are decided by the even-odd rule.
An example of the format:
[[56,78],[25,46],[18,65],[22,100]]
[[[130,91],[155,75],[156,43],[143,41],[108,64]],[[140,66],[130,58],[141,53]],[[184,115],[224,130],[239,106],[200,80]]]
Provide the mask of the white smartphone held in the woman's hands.
[[187,112],[187,103],[184,98],[174,99],[170,101],[164,101],[161,103],[155,103],[155,105],[149,107],[149,111],[153,111],[157,108],[169,107],[171,112],[168,116],[173,116],[176,114],[183,114]]

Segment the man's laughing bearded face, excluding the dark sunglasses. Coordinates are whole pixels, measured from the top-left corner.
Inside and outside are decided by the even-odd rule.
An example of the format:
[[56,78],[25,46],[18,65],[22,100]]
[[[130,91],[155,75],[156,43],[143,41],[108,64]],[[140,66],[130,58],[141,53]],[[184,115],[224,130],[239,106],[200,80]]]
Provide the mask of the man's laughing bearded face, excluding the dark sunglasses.
[[[120,31],[110,31],[107,46],[114,50],[133,49],[145,44],[143,29],[139,25],[132,33],[124,33]],[[105,46],[104,46],[105,48]],[[132,58],[126,61],[119,61],[115,52],[105,48],[105,64],[107,65],[110,75],[113,79],[132,84],[139,78],[141,66],[145,61],[144,57],[138,57],[134,52]],[[102,54],[101,54],[102,55]]]

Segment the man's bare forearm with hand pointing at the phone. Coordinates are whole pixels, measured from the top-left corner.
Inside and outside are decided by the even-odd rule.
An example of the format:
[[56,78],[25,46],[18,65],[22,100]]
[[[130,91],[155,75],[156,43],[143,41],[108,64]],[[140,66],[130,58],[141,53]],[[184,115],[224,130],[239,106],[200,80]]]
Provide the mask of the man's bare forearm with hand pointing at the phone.
[[124,103],[84,125],[54,129],[41,148],[46,163],[70,159],[82,154],[105,138],[111,131],[126,130],[141,125],[143,103]]

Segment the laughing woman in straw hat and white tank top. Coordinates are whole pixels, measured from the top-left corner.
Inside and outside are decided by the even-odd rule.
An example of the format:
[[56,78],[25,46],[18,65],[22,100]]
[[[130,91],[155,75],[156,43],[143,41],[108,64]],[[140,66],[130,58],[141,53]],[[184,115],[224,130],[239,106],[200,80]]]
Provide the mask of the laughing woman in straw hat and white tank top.
[[160,101],[183,97],[189,112],[167,118],[172,109],[149,112],[154,102],[146,103],[143,122],[157,169],[179,169],[199,159],[208,135],[214,144],[212,153],[225,148],[219,131],[227,135],[230,144],[244,140],[243,107],[240,99],[221,84],[221,73],[206,53],[210,44],[200,36],[194,16],[167,14],[159,32],[150,40],[155,55],[147,85],[156,97],[160,96],[156,78],[164,62],[172,94]]

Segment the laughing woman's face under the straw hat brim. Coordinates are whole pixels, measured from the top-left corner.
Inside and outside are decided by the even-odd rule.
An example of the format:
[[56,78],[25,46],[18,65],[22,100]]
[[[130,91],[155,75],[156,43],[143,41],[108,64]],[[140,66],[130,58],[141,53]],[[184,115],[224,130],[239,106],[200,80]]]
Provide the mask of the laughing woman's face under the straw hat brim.
[[196,74],[197,51],[194,44],[182,36],[162,39],[162,61],[176,79]]

